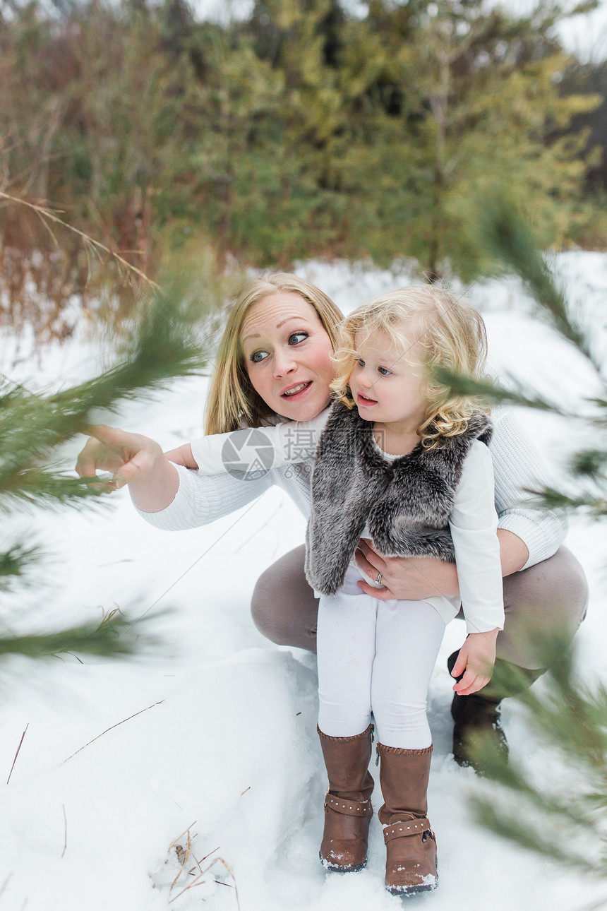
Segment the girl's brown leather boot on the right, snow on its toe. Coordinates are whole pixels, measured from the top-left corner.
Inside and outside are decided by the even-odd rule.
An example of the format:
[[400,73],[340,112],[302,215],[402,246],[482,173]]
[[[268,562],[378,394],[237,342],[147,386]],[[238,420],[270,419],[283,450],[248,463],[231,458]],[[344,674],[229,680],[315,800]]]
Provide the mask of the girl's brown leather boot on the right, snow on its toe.
[[435,889],[436,839],[430,828],[427,792],[432,747],[399,750],[378,743],[379,810],[386,842],[386,888],[393,896]]

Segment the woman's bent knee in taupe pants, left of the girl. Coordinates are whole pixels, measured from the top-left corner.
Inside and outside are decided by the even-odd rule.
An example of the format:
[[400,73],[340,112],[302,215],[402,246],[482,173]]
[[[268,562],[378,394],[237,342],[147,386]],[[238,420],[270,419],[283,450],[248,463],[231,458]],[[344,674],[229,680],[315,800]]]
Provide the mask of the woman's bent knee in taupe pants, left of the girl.
[[316,651],[319,599],[304,573],[305,555],[302,544],[261,574],[251,599],[251,615],[266,639]]

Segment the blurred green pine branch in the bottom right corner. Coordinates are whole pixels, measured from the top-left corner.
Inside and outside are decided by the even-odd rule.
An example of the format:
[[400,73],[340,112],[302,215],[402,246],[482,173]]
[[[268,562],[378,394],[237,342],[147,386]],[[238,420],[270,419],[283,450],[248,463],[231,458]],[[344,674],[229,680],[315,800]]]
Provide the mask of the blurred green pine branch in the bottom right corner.
[[[579,680],[568,640],[565,632],[535,636],[542,664],[551,667],[550,691],[531,689],[518,696],[534,735],[558,753],[566,790],[543,778],[533,783],[521,766],[504,758],[491,737],[477,736],[471,749],[498,790],[491,798],[473,796],[471,805],[480,824],[513,843],[585,874],[607,875],[607,859],[596,851],[607,804],[607,690]],[[512,668],[498,666],[491,685],[516,691],[522,681]],[[567,850],[563,832],[570,833]]]

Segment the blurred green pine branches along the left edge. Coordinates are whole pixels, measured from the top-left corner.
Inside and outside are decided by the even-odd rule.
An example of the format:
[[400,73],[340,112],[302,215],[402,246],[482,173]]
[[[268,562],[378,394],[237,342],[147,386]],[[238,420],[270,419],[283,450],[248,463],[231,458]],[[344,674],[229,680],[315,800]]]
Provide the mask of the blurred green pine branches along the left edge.
[[[65,595],[54,591],[52,558],[25,532],[22,518],[41,509],[99,505],[108,486],[66,470],[66,443],[86,434],[100,412],[112,415],[124,402],[141,400],[175,377],[202,371],[207,355],[196,338],[200,308],[196,313],[189,308],[183,279],[167,281],[167,288],[153,292],[146,312],[123,339],[124,351],[104,373],[80,384],[62,384],[57,392],[25,388],[4,375],[0,380],[0,668],[9,655],[38,659],[69,651],[118,658],[160,645],[149,631],[142,601],[130,604],[142,622],[112,609],[100,622],[85,614],[72,626],[58,627],[54,611],[64,614]],[[35,629],[36,618],[24,609],[27,599],[13,600],[12,609],[7,602],[7,593],[22,596],[35,588],[51,629]]]

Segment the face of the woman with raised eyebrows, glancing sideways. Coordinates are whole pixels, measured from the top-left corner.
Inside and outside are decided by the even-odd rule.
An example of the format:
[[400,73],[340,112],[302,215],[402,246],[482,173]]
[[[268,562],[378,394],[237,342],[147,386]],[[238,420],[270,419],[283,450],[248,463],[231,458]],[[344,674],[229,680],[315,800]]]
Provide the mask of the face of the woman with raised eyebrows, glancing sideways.
[[277,415],[309,421],[329,404],[333,348],[308,301],[285,291],[261,298],[242,323],[240,341],[251,385]]

